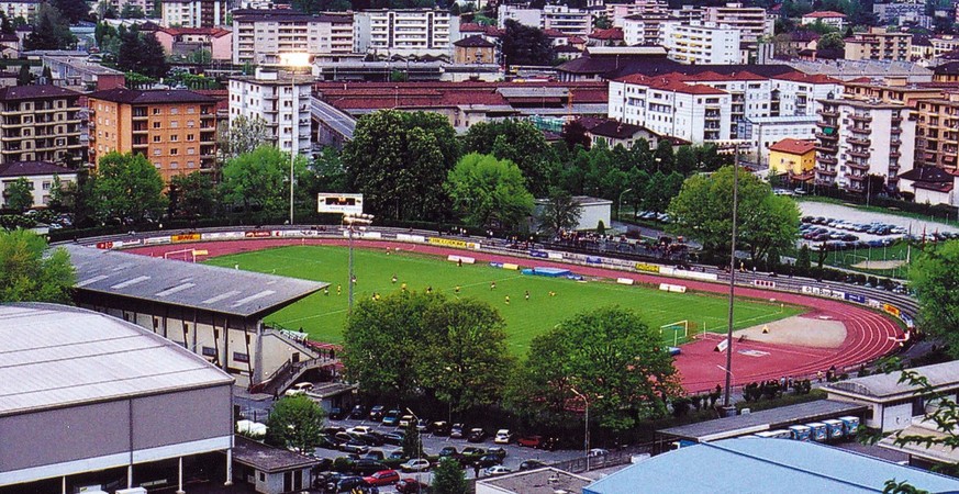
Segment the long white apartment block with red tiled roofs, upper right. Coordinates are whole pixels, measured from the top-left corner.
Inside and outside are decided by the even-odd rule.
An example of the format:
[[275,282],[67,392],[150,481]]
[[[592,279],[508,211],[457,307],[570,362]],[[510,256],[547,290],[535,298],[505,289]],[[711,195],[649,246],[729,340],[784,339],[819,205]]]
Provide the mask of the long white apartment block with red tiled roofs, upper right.
[[801,72],[634,75],[610,81],[609,116],[698,144],[723,143],[748,138],[747,121],[813,116],[821,108],[815,99],[841,88],[837,80]]

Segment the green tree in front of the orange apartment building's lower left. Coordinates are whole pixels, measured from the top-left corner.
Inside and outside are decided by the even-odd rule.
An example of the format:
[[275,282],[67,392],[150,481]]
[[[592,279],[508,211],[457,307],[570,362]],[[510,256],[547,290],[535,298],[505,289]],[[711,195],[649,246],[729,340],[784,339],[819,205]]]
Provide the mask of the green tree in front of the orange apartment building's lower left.
[[164,179],[145,156],[109,153],[93,176],[93,209],[101,221],[141,223],[163,214],[163,190]]

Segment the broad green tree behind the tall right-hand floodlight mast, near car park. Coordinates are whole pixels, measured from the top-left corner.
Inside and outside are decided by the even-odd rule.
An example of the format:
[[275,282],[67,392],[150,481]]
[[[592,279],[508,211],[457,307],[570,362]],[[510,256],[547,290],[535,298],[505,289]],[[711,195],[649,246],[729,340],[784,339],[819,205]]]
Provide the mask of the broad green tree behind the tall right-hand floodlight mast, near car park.
[[[698,239],[706,249],[726,249],[733,229],[733,167],[724,167],[710,176],[687,179],[669,203],[669,229]],[[799,216],[792,199],[774,195],[769,184],[739,170],[736,243],[748,249],[754,260],[762,259],[770,249],[792,247],[799,236]]]

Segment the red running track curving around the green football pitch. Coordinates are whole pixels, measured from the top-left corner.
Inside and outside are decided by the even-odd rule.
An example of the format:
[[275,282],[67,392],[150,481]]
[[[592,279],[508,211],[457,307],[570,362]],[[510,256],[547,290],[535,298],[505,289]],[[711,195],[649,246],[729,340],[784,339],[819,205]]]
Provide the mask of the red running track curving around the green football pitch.
[[[174,244],[130,249],[130,251],[161,256],[164,252],[181,250],[191,247],[202,247],[210,257],[260,250],[269,247],[287,245],[333,245],[345,246],[345,239],[294,239],[271,238],[249,240],[226,240],[194,244]],[[435,256],[464,254],[462,250],[419,244],[398,244],[393,242],[354,240],[360,248],[386,248],[401,245],[402,249]],[[640,283],[658,284],[661,282],[677,283],[674,278],[664,278],[628,271],[615,271],[588,266],[566,265],[547,260],[532,260],[470,250],[469,256],[479,261],[516,262],[524,266],[543,266],[569,269],[570,271],[596,278],[631,278]],[[695,280],[682,280],[681,283],[690,290],[711,293],[728,293],[724,284],[709,283]],[[841,322],[846,326],[846,339],[838,348],[812,348],[794,345],[772,345],[759,341],[734,343],[733,345],[733,383],[736,386],[754,381],[779,379],[782,377],[802,378],[825,372],[830,367],[837,369],[855,367],[889,353],[897,347],[894,338],[901,338],[899,325],[889,317],[862,306],[846,304],[829,299],[819,299],[798,293],[776,292],[757,288],[737,287],[736,295],[752,299],[777,301],[792,305],[810,307],[811,312],[803,317],[828,317]],[[716,337],[718,338],[718,337]],[[682,378],[682,385],[688,392],[700,392],[713,389],[725,380],[725,352],[713,351],[716,339],[696,340],[683,345],[682,353],[676,359],[676,367]]]

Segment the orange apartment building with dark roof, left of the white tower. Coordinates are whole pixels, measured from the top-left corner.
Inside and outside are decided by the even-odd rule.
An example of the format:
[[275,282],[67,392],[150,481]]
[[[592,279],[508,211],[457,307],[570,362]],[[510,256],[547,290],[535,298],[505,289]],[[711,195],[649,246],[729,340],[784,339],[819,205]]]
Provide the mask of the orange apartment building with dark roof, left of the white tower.
[[216,101],[187,90],[124,88],[88,94],[90,164],[110,153],[144,155],[165,181],[213,169]]

